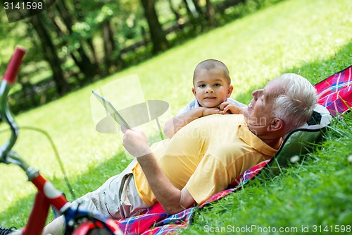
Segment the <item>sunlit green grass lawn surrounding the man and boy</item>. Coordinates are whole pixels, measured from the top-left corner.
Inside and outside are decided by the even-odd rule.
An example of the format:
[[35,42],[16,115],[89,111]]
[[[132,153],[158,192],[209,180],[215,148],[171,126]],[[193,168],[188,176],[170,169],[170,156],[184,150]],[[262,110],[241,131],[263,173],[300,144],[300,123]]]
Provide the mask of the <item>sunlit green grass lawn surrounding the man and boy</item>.
[[[232,97],[244,103],[251,100],[251,90],[285,72],[299,73],[318,83],[351,65],[351,11],[348,0],[284,1],[20,114],[16,120],[20,126],[36,126],[50,133],[76,195],[82,195],[117,174],[130,161],[122,151],[119,135],[95,131],[90,90],[137,74],[146,100],[170,103],[163,123],[192,99],[191,76],[203,59],[220,59],[227,64],[234,85]],[[113,88],[117,95],[125,90]],[[149,136],[157,140],[155,133],[150,132]],[[4,141],[6,134],[0,138]],[[272,180],[253,181],[244,190],[200,210],[184,234],[204,234],[205,226],[298,227],[300,231],[302,226],[312,229],[313,225],[351,224],[352,192],[348,182],[352,180],[352,169],[347,162],[352,155],[351,139],[350,114],[333,123],[327,141],[307,156],[304,164],[290,167]],[[15,150],[68,194],[54,153],[43,136],[23,130]],[[1,164],[0,172],[0,225],[23,227],[34,187],[16,166]],[[68,198],[73,199],[69,194]]]

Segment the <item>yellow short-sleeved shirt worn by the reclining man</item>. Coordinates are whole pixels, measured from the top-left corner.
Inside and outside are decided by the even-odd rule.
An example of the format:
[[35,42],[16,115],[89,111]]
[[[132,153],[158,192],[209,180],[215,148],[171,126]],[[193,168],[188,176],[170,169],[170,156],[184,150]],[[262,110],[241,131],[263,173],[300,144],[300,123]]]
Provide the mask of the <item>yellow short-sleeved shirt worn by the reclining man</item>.
[[[151,151],[170,182],[180,190],[186,186],[197,203],[224,190],[246,169],[277,152],[249,131],[241,114],[191,121],[171,139],[152,145]],[[132,171],[142,200],[155,204],[156,197],[140,165]]]

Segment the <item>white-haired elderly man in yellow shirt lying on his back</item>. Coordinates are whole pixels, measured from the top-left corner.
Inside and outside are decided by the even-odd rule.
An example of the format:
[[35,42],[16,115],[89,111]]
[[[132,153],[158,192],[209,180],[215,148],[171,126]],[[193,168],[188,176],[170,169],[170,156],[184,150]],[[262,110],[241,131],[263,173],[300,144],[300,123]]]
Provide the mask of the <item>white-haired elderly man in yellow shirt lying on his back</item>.
[[[80,207],[119,219],[157,202],[169,214],[203,203],[275,155],[282,136],[306,123],[317,102],[315,88],[292,73],[252,96],[244,114],[204,116],[151,147],[142,131],[122,128],[123,145],[137,160],[77,200]],[[44,232],[58,234],[62,225],[58,218]]]

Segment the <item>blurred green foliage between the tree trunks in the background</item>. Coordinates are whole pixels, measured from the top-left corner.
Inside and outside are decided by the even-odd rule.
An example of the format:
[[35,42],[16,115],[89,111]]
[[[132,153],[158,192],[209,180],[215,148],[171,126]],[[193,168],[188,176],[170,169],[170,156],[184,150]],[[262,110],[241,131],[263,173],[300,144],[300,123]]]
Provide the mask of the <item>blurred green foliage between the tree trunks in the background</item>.
[[[223,25],[277,1],[279,0],[238,1],[239,4],[237,1],[214,1],[215,18],[218,25]],[[222,4],[224,2],[227,2],[226,6]],[[205,1],[199,1],[202,11],[191,19],[184,3],[182,0],[156,1],[158,18],[163,30],[168,33],[170,45],[181,44],[211,28],[206,16],[203,16]],[[233,4],[237,5],[232,6]],[[30,18],[7,24],[5,15],[2,17],[4,20],[1,21],[0,28],[10,31],[8,35],[12,35],[6,35],[2,42],[8,46],[7,41],[11,40],[13,44],[8,47],[9,50],[0,52],[5,54],[4,63],[0,63],[0,73],[4,73],[16,44],[30,48],[18,79],[20,85],[13,90],[11,105],[15,113],[42,105],[65,92],[79,89],[93,80],[153,56],[149,25],[138,0],[70,0],[54,4],[40,14],[55,47],[51,48],[51,52],[43,51],[43,48],[48,47],[43,45],[44,37],[37,36]],[[113,35],[103,37],[103,31],[108,25],[111,30],[109,32]],[[57,54],[61,62],[48,60],[47,54]],[[61,73],[58,71],[61,69],[63,74],[59,76]],[[54,75],[58,78],[53,80]],[[60,80],[62,84],[59,83]]]

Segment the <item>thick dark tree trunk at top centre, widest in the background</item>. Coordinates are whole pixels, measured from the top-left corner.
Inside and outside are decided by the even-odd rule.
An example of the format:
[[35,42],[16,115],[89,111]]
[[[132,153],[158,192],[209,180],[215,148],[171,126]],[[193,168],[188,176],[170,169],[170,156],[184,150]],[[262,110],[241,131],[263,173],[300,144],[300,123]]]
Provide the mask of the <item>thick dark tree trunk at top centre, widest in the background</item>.
[[146,16],[146,21],[149,25],[149,31],[151,34],[151,42],[153,43],[153,54],[162,52],[168,49],[168,40],[166,40],[165,32],[161,28],[158,16],[156,15],[156,10],[154,7],[153,0],[141,0],[142,6],[144,8],[144,15]]

